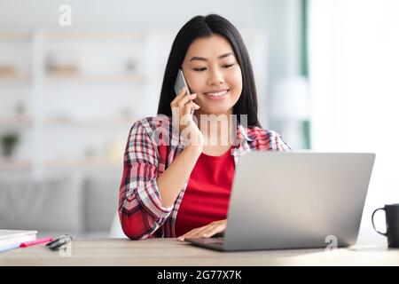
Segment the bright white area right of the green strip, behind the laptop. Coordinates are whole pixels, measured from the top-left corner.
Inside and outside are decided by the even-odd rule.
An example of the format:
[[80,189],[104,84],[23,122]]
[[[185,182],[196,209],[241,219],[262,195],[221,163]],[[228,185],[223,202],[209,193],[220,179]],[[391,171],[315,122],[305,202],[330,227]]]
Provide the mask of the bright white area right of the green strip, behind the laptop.
[[[314,149],[377,154],[364,233],[372,233],[373,209],[399,202],[398,11],[395,0],[316,0],[310,5]],[[378,224],[384,231],[383,214]]]

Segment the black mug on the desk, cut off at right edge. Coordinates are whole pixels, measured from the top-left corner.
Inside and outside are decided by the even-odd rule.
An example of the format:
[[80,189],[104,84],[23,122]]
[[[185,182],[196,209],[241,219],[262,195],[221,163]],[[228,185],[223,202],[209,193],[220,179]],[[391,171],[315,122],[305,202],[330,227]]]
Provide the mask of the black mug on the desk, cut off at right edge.
[[[378,210],[385,211],[385,219],[387,221],[387,232],[379,232],[374,225],[374,214]],[[372,226],[377,233],[387,237],[389,248],[399,248],[399,204],[388,204],[384,208],[375,209],[372,212]]]

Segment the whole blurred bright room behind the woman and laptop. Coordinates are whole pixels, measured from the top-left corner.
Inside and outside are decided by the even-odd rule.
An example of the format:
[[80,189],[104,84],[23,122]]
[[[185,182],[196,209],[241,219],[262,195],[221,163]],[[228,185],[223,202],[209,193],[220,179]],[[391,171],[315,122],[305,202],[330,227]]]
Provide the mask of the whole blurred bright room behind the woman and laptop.
[[179,28],[218,13],[246,42],[263,128],[293,150],[377,154],[372,234],[372,210],[399,201],[398,12],[395,0],[0,0],[0,228],[119,236],[129,128],[156,114]]

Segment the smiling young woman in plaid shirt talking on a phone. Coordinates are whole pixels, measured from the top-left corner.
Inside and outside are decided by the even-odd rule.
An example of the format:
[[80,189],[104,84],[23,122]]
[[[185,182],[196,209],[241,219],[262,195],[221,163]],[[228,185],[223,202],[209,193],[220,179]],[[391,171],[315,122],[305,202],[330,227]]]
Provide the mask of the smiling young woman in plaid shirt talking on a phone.
[[[189,90],[176,95],[179,69]],[[119,202],[123,232],[132,240],[179,241],[223,234],[239,156],[270,150],[290,148],[261,128],[238,30],[215,14],[192,18],[172,45],[158,115],[129,132]]]

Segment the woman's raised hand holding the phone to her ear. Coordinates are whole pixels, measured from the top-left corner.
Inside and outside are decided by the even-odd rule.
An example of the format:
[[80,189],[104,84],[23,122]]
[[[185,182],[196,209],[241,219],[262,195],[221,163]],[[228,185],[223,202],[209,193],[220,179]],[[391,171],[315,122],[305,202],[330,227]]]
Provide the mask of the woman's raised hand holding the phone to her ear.
[[197,124],[192,120],[193,112],[200,109],[200,106],[192,101],[197,97],[197,94],[187,95],[186,93],[187,89],[184,87],[170,103],[172,123],[179,130],[179,135],[183,136],[185,146],[202,148],[204,137]]

